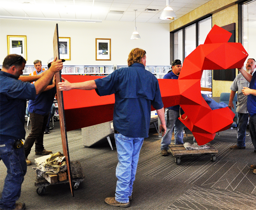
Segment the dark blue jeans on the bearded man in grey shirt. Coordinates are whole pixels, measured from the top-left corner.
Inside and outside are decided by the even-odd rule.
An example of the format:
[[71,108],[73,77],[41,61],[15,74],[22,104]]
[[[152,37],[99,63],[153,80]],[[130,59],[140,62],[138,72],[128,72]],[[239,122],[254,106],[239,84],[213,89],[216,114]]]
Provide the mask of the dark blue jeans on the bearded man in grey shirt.
[[239,124],[238,124],[236,145],[238,145],[239,147],[245,147],[246,127],[248,123],[249,114],[238,113],[238,118],[239,118]]

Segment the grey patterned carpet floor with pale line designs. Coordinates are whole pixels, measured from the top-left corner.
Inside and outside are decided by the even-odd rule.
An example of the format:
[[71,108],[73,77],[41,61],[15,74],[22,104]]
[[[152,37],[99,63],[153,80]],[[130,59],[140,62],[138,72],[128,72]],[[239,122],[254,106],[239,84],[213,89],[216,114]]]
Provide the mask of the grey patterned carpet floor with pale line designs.
[[[27,135],[30,130],[27,130]],[[104,203],[113,197],[116,187],[116,148],[111,150],[107,139],[85,148],[81,129],[67,132],[70,160],[78,160],[85,178],[72,197],[69,184],[54,184],[46,187],[44,195],[37,194],[35,187],[35,148],[32,148],[20,202],[28,210],[75,210],[118,209]],[[192,133],[184,142],[192,143]],[[112,145],[114,144],[111,136]],[[134,181],[133,200],[129,209],[139,210],[256,210],[256,175],[249,169],[256,164],[250,136],[246,137],[245,150],[231,150],[236,143],[236,130],[225,130],[210,142],[217,150],[216,162],[210,155],[183,156],[180,165],[174,157],[160,154],[161,139],[150,129],[144,140]],[[53,152],[62,152],[59,122],[55,129],[44,135],[44,146]],[[0,190],[6,176],[6,167],[0,161]]]

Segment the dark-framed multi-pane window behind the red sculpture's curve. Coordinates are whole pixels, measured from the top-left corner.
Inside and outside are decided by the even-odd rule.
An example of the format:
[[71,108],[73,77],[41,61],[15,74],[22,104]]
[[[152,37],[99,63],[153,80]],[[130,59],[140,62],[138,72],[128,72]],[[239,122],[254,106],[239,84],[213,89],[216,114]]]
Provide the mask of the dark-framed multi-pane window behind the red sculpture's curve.
[[[173,37],[173,49],[171,61],[179,59],[184,61],[198,45],[204,43],[207,34],[212,29],[212,17],[196,21],[171,34]],[[212,70],[204,70],[201,78],[201,87],[212,88]]]

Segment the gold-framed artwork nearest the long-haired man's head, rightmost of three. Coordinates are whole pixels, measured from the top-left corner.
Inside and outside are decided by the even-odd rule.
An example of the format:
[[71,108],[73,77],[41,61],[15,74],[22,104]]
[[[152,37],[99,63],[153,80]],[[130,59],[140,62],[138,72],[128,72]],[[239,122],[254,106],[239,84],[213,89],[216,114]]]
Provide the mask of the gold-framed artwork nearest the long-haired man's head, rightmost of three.
[[96,38],[96,60],[111,60],[111,39]]

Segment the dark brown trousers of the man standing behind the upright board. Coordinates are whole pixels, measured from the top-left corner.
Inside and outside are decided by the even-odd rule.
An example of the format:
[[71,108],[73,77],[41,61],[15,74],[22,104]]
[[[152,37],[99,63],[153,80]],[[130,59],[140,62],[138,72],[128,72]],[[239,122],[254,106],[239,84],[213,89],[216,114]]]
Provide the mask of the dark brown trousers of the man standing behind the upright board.
[[24,143],[25,156],[29,155],[31,148],[35,143],[35,151],[44,150],[44,130],[48,122],[49,114],[41,115],[36,113],[30,114],[31,132]]

